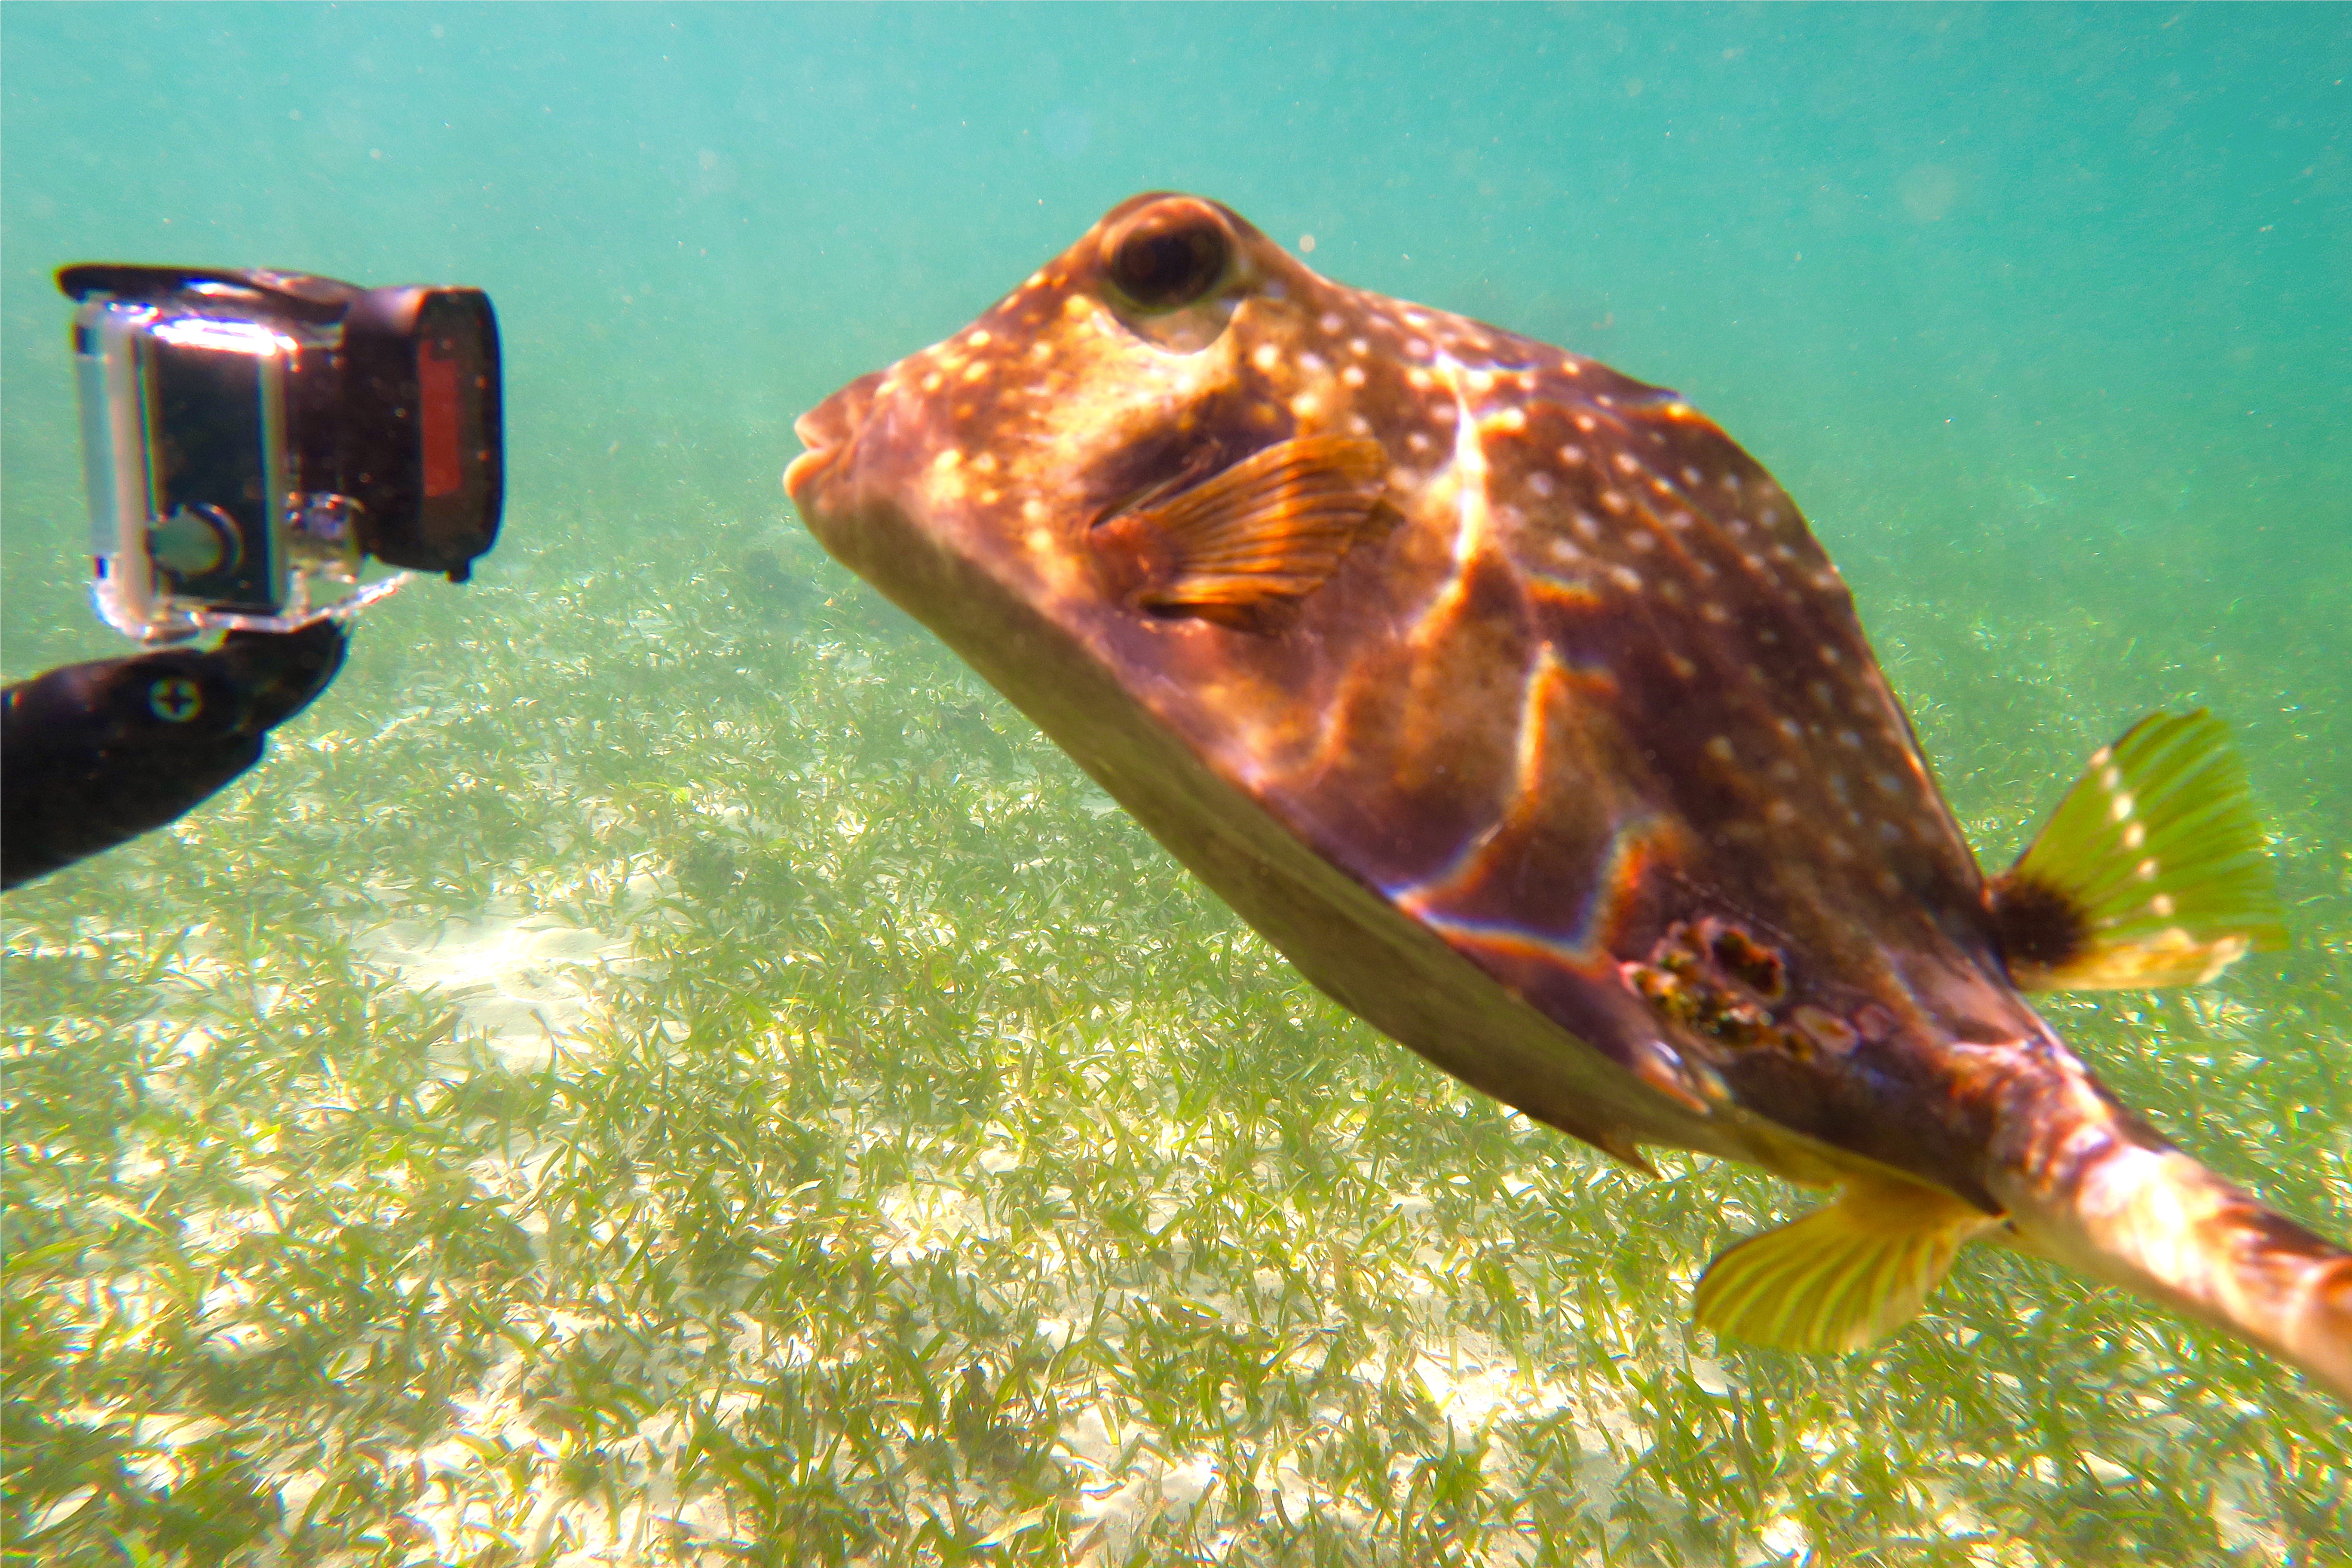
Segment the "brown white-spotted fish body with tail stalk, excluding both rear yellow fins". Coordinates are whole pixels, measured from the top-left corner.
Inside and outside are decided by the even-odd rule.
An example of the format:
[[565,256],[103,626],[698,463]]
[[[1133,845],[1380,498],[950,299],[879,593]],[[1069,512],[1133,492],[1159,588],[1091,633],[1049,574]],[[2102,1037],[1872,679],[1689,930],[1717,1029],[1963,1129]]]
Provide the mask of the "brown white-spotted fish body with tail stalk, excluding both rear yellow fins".
[[1879,1194],[1943,1262],[2011,1234],[2352,1392],[2352,1260],[2018,994],[1846,585],[1675,393],[1150,195],[800,435],[828,550],[1446,1072],[1635,1164]]

